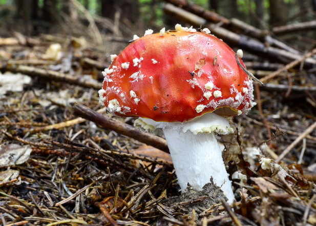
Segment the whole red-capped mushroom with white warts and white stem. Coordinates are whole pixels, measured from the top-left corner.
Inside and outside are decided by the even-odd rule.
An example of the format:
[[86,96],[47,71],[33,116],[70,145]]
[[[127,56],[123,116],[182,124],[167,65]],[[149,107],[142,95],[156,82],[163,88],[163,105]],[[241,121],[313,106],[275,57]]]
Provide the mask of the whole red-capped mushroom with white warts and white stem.
[[116,115],[139,117],[136,126],[163,131],[182,191],[187,183],[201,190],[213,177],[232,202],[216,133],[234,132],[224,117],[255,105],[242,52],[208,29],[176,25],[175,31],[151,33],[111,55],[100,102]]

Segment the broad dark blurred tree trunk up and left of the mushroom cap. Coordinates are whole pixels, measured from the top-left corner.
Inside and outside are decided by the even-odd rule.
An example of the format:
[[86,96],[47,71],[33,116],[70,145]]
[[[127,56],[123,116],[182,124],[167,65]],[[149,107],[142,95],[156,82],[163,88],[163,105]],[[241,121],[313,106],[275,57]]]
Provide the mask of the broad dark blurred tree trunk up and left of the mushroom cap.
[[138,0],[101,0],[101,15],[112,20],[115,14],[120,14],[120,19],[135,24],[139,18]]

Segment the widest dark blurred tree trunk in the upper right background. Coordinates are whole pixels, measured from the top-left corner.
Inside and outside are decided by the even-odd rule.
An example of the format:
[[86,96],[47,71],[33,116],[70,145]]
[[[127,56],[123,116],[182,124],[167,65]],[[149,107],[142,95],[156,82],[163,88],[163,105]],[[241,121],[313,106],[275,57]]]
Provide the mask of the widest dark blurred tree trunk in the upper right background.
[[286,6],[283,0],[269,0],[269,24],[273,26],[286,18]]

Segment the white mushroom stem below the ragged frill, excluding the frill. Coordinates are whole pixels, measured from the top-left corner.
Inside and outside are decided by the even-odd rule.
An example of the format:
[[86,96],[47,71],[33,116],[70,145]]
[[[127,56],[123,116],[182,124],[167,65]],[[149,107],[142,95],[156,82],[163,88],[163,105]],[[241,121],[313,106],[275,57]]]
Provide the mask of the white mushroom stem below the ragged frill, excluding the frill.
[[233,202],[235,197],[231,190],[231,181],[228,179],[215,133],[195,135],[189,130],[182,132],[170,127],[162,130],[182,191],[187,187],[187,183],[197,190],[202,190],[212,176],[214,183],[225,193],[228,202]]

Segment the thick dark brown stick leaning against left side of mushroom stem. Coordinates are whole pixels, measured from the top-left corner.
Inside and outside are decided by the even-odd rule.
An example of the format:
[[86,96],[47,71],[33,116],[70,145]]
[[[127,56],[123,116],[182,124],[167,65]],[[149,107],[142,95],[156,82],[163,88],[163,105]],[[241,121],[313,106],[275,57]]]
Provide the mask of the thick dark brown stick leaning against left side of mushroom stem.
[[161,151],[169,153],[165,139],[151,133],[143,133],[133,126],[122,123],[114,118],[106,117],[90,108],[87,108],[86,106],[76,104],[74,106],[74,114],[93,121],[103,128],[108,128],[119,134],[134,138],[140,142],[146,143],[146,145],[151,145]]

